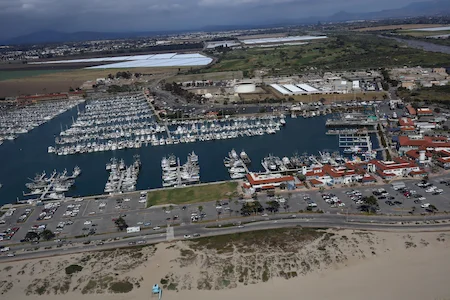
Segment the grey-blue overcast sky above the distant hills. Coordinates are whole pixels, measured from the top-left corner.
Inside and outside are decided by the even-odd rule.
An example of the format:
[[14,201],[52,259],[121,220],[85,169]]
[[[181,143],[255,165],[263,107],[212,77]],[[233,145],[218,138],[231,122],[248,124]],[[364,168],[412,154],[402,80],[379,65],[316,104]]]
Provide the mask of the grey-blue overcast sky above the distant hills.
[[0,0],[0,39],[39,30],[154,31],[264,24],[420,0]]

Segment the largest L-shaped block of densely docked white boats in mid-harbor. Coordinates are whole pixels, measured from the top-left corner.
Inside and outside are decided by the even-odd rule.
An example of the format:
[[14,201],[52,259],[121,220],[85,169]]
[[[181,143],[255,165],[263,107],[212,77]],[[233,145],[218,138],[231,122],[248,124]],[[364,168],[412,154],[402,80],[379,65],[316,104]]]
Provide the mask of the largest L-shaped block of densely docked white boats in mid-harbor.
[[48,153],[70,155],[275,134],[285,116],[177,120],[159,124],[142,94],[90,100]]

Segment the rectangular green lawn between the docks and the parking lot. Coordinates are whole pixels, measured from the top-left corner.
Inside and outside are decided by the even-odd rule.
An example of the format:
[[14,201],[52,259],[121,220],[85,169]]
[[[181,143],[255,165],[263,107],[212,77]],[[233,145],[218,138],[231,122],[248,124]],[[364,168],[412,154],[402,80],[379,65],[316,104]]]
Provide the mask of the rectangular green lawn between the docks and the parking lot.
[[237,182],[150,191],[147,194],[147,207],[208,202],[228,199],[230,196],[237,196]]

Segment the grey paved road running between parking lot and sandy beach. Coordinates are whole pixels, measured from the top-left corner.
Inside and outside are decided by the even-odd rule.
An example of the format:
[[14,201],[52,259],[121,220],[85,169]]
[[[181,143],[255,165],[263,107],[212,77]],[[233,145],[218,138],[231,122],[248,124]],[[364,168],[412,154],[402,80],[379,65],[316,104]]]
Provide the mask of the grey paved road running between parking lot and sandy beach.
[[[109,234],[102,236],[92,236],[81,239],[74,239],[71,243],[65,243],[60,248],[56,247],[53,241],[43,242],[38,245],[24,244],[11,247],[11,251],[16,256],[8,257],[3,255],[0,262],[22,260],[38,257],[47,257],[54,255],[65,255],[70,253],[116,249],[119,247],[128,247],[130,242],[146,244],[161,243],[173,239],[184,239],[185,235],[193,236],[200,234],[202,237],[215,236],[222,234],[247,232],[254,230],[267,230],[283,227],[326,227],[326,228],[348,228],[363,230],[382,230],[382,231],[437,231],[450,230],[450,217],[435,216],[433,220],[426,220],[418,217],[380,217],[380,216],[347,216],[347,215],[324,215],[309,214],[301,216],[273,215],[270,217],[247,217],[241,220],[243,227],[235,226],[218,228],[219,224],[230,224],[232,221],[214,222],[211,224],[192,224],[185,226],[175,226],[161,228],[159,230],[141,231],[136,235],[128,235],[126,233]],[[247,223],[248,222],[248,223]],[[207,228],[208,226],[209,228]],[[211,228],[214,227],[214,228]],[[127,238],[123,238],[123,237]],[[103,244],[98,242],[103,240]],[[89,241],[89,244],[84,242]],[[38,250],[33,250],[39,247]],[[45,248],[51,247],[51,249]]]

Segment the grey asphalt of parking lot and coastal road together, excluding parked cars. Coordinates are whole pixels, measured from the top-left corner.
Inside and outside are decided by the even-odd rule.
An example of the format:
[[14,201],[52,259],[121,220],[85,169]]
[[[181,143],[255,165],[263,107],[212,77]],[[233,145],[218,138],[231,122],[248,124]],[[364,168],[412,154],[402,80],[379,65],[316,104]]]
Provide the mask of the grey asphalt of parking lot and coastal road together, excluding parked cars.
[[[215,235],[221,233],[235,232],[237,226],[230,227],[230,229],[206,229],[206,226],[214,224],[230,224],[238,222],[253,222],[263,221],[261,225],[245,225],[244,228],[239,228],[240,231],[258,230],[279,228],[286,224],[289,226],[319,226],[319,227],[348,227],[361,229],[421,229],[420,226],[430,228],[445,228],[450,215],[450,187],[440,184],[439,182],[447,177],[431,178],[430,183],[433,183],[438,188],[442,188],[444,193],[440,195],[431,195],[426,193],[424,189],[419,188],[415,184],[418,180],[404,180],[408,189],[414,189],[417,193],[423,194],[426,200],[420,203],[415,203],[416,198],[406,198],[403,194],[394,191],[391,185],[380,186],[359,186],[354,188],[333,188],[326,190],[325,193],[333,193],[345,206],[333,206],[326,203],[319,191],[293,191],[286,192],[282,196],[286,199],[288,207],[286,209],[280,208],[279,213],[270,214],[263,217],[262,215],[242,217],[240,209],[242,201],[223,200],[221,208],[217,208],[215,201],[199,204],[183,206],[159,206],[146,208],[146,203],[139,202],[139,192],[131,195],[122,196],[99,196],[97,198],[84,199],[76,202],[74,200],[67,200],[61,202],[61,206],[56,210],[50,220],[37,220],[43,210],[43,206],[35,207],[21,207],[18,208],[11,217],[5,218],[6,224],[0,225],[0,231],[7,228],[17,227],[19,230],[11,238],[0,242],[0,246],[9,246],[11,248],[8,252],[0,253],[0,259],[21,259],[27,257],[47,256],[57,253],[73,253],[81,251],[89,251],[109,247],[128,246],[130,241],[143,240],[147,243],[157,243],[171,239],[183,238],[185,234],[193,235],[199,233],[202,236]],[[399,201],[400,204],[388,205],[385,200],[379,200],[380,211],[377,215],[367,216],[360,214],[358,207],[350,197],[346,194],[349,190],[358,190],[364,196],[373,194],[373,191],[379,188],[384,188],[389,196],[395,198],[392,201]],[[122,200],[118,203],[119,199]],[[305,198],[309,200],[305,200]],[[265,207],[266,202],[272,200],[266,195],[258,197],[260,203]],[[314,211],[323,211],[323,213],[307,213],[308,202],[314,202],[317,207]],[[104,207],[101,207],[104,203]],[[424,208],[421,208],[421,203],[430,203],[438,208],[437,214],[430,214]],[[70,205],[79,205],[79,213],[76,217],[64,217],[63,215],[68,210]],[[199,213],[199,206],[203,207],[205,216],[201,223],[192,222],[192,213]],[[413,211],[413,207],[415,207]],[[25,222],[18,223],[18,217],[27,209],[32,208],[32,212],[25,220]],[[299,213],[302,211],[302,213]],[[295,217],[292,217],[295,215]],[[140,226],[141,230],[138,233],[118,232],[113,222],[113,219],[122,216],[129,226]],[[285,221],[286,218],[292,220]],[[72,225],[66,225],[64,228],[57,230],[57,225],[61,221],[72,221]],[[271,222],[279,223],[271,223]],[[438,221],[438,224],[426,224]],[[205,222],[205,223],[204,223]],[[287,223],[286,223],[287,222]],[[444,223],[445,222],[445,223]],[[90,224],[87,224],[90,223]],[[403,223],[403,224],[401,224]],[[417,224],[416,224],[417,223]],[[40,241],[39,244],[30,244],[28,242],[21,243],[27,231],[33,226],[46,225],[47,229],[53,232],[59,232],[56,239],[61,242]],[[274,225],[275,224],[275,225]],[[313,225],[310,225],[313,224]],[[450,224],[450,223],[449,223]],[[94,225],[94,226],[93,226]],[[286,225],[287,226],[287,225]],[[377,227],[378,226],[378,227]],[[392,226],[386,227],[386,226]],[[411,228],[410,228],[411,226]],[[158,229],[158,227],[160,227]],[[167,227],[170,227],[169,234],[167,234]],[[352,227],[353,228],[353,227]],[[242,230],[243,229],[243,230]],[[90,230],[95,230],[93,235],[88,235]],[[118,239],[118,240],[114,240]],[[102,241],[103,245],[97,244]],[[71,242],[71,243],[70,243]],[[89,242],[89,244],[83,244]],[[60,246],[59,246],[60,245]],[[49,248],[51,249],[45,249]],[[7,257],[8,253],[14,253],[15,257]]]

